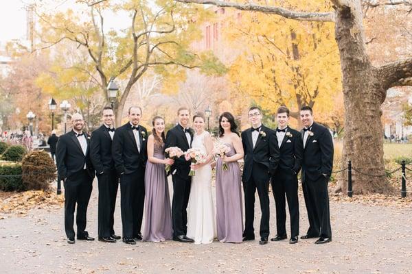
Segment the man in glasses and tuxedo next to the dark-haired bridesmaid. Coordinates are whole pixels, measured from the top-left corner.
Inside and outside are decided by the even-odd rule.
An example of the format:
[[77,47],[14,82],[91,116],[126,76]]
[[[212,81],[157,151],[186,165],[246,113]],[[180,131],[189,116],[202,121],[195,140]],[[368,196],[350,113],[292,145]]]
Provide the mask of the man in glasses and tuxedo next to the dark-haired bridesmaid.
[[244,190],[245,227],[243,240],[254,240],[255,192],[260,200],[260,245],[268,243],[269,236],[269,179],[275,173],[279,162],[279,147],[275,132],[262,125],[262,111],[258,107],[249,108],[252,127],[242,132],[244,168],[242,175]]

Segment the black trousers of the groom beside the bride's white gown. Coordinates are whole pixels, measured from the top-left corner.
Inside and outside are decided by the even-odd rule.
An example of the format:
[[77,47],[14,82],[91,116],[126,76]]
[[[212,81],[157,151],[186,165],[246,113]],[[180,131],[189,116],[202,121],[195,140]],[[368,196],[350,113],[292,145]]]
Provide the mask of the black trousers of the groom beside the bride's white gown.
[[173,237],[186,235],[187,233],[187,203],[189,203],[191,178],[182,178],[172,175],[173,201],[172,222]]

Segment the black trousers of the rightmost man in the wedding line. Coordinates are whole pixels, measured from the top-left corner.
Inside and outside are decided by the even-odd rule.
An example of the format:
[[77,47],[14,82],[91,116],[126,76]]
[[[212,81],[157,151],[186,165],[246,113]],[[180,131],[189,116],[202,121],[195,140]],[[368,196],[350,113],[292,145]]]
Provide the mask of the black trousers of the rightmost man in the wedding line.
[[332,237],[329,213],[328,195],[329,177],[319,177],[316,181],[304,177],[302,188],[304,190],[306,210],[308,210],[309,236]]

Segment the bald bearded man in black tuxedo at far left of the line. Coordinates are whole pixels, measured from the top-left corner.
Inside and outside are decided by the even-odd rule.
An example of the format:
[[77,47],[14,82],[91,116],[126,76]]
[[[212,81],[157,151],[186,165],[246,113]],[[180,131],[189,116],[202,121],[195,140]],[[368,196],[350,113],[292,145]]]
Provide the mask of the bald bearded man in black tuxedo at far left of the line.
[[73,130],[60,136],[56,147],[58,179],[65,187],[65,230],[67,242],[74,243],[74,210],[77,203],[77,238],[78,240],[94,240],[86,229],[87,206],[94,178],[93,164],[89,158],[89,136],[83,132],[82,115],[71,116]]

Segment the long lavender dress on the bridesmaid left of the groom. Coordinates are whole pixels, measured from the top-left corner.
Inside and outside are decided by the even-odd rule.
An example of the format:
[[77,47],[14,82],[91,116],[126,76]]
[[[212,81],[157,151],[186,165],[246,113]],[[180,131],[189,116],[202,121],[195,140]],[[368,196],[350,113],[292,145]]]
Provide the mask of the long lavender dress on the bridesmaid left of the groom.
[[[164,159],[164,145],[157,145],[153,156]],[[152,163],[148,160],[144,177],[145,184],[145,226],[143,240],[161,242],[172,238],[172,211],[170,210],[170,197],[168,179],[165,165]]]

